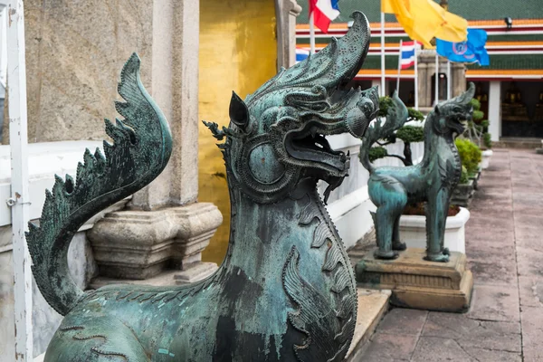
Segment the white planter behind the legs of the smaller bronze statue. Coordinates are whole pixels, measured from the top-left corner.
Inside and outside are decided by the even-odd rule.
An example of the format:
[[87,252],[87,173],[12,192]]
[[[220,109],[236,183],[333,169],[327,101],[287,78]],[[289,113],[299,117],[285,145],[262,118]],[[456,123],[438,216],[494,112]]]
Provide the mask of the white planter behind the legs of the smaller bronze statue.
[[[454,216],[447,217],[445,224],[445,247],[451,252],[466,252],[465,224],[470,220],[470,211],[464,207]],[[400,240],[408,248],[426,248],[426,216],[402,215],[400,218]]]

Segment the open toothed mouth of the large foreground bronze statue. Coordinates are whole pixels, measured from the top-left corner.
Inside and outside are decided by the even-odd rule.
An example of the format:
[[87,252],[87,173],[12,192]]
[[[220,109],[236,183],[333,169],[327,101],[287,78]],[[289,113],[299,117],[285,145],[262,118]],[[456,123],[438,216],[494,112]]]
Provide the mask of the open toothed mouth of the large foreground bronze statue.
[[345,176],[348,172],[349,155],[336,151],[329,145],[326,134],[340,133],[324,131],[317,125],[306,127],[298,132],[290,132],[286,137],[285,147],[291,157],[316,163],[334,176]]

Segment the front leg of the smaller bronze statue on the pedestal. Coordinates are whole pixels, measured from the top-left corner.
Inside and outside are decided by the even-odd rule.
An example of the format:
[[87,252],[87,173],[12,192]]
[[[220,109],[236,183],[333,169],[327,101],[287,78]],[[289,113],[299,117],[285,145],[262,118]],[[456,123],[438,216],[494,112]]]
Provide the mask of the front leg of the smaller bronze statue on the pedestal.
[[[436,194],[436,195],[435,195]],[[426,257],[431,262],[449,262],[449,251],[443,248],[445,223],[449,211],[449,192],[431,192],[426,205]]]

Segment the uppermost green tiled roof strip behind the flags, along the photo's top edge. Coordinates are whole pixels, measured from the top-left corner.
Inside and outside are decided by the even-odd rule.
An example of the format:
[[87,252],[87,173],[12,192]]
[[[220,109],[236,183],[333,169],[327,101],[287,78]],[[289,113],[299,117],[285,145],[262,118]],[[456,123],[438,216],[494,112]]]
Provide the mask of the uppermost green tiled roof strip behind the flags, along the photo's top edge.
[[[439,3],[439,1],[436,1]],[[298,16],[299,24],[308,24],[308,1],[298,0],[302,12]],[[360,10],[370,22],[379,22],[380,0],[340,0],[341,14],[334,23],[347,23],[349,15]],[[503,19],[540,19],[543,18],[541,0],[449,0],[449,11],[468,20]],[[393,14],[386,14],[386,22],[395,22]],[[514,24],[514,22],[513,22]]]

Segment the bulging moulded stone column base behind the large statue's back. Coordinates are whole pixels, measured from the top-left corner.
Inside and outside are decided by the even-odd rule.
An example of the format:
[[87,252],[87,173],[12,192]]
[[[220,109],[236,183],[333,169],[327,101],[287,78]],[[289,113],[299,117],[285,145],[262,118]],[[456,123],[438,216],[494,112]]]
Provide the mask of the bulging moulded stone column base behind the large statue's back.
[[202,263],[202,251],[222,222],[215,205],[195,203],[106,214],[87,235],[102,277],[146,280],[170,268],[194,280],[216,269]]

